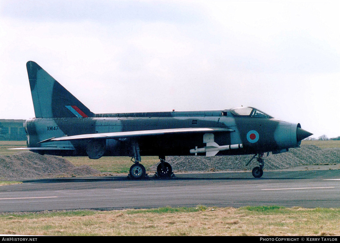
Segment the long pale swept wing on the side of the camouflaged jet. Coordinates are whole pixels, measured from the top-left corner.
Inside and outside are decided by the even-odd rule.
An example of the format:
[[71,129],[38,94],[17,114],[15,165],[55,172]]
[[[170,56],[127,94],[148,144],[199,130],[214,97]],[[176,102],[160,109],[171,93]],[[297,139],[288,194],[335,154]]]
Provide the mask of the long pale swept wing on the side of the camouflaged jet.
[[212,128],[170,128],[170,129],[157,129],[157,130],[142,130],[130,132],[114,132],[114,133],[96,133],[96,134],[81,134],[73,136],[65,136],[59,138],[50,138],[39,143],[51,141],[71,141],[81,139],[110,139],[110,138],[129,138],[129,137],[143,137],[143,136],[156,136],[164,134],[186,134],[186,133],[214,133],[214,132],[235,132],[230,128],[212,127]]

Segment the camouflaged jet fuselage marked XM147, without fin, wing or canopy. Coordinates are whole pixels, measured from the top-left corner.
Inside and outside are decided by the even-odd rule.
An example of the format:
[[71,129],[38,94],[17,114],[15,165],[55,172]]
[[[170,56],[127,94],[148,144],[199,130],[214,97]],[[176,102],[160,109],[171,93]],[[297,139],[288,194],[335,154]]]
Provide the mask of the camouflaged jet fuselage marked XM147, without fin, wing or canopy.
[[[243,144],[243,148],[219,151],[217,155],[254,154],[298,147],[301,143],[296,139],[298,126],[299,124],[291,124],[274,118],[235,116],[230,110],[97,114],[96,117],[91,118],[37,118],[29,119],[25,123],[28,147],[57,146],[74,149],[44,152],[64,156],[87,156],[86,147],[90,140],[38,142],[52,137],[80,134],[221,127],[232,129],[234,132],[215,133],[217,144]],[[255,138],[252,139],[250,135],[255,135]],[[105,139],[104,156],[130,156],[132,153],[130,140],[131,138]],[[140,137],[138,143],[141,156],[158,156],[160,153],[166,156],[194,155],[189,152],[190,149],[205,146],[202,134]],[[198,155],[205,154],[199,153]]]

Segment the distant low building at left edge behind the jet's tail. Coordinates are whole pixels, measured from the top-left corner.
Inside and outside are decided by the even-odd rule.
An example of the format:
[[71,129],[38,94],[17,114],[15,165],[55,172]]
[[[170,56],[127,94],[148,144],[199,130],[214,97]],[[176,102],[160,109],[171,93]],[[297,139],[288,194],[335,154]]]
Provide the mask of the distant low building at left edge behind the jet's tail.
[[0,119],[0,140],[26,140],[25,120]]

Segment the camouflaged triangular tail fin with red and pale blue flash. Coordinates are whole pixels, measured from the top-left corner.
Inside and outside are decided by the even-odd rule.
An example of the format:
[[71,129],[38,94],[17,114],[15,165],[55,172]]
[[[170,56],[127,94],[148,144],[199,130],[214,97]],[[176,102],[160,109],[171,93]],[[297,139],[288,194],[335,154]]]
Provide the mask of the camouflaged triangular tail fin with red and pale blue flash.
[[94,117],[83,103],[35,62],[26,64],[36,118]]

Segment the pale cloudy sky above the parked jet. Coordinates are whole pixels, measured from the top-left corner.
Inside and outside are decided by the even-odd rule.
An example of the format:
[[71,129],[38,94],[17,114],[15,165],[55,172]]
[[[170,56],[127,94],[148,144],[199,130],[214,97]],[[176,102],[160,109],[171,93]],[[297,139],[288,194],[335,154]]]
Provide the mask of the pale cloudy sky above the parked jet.
[[253,106],[340,136],[339,1],[0,1],[0,118],[33,60],[95,113]]

